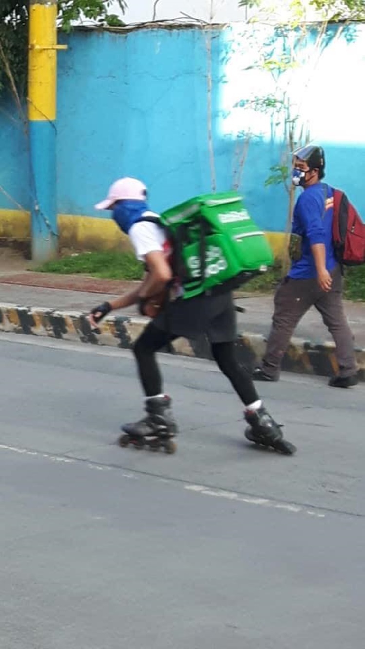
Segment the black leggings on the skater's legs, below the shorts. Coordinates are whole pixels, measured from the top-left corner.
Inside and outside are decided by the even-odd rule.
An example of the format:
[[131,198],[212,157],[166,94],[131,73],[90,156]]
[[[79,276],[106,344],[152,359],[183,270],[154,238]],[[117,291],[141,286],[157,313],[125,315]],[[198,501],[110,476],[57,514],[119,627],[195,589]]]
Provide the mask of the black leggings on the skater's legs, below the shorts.
[[[156,362],[156,352],[169,345],[177,336],[158,329],[149,323],[135,341],[134,355],[137,361],[139,379],[146,397],[162,392],[162,379]],[[241,367],[235,358],[233,343],[211,343],[211,353],[220,371],[230,380],[237,395],[245,405],[259,399],[252,378],[246,367]]]

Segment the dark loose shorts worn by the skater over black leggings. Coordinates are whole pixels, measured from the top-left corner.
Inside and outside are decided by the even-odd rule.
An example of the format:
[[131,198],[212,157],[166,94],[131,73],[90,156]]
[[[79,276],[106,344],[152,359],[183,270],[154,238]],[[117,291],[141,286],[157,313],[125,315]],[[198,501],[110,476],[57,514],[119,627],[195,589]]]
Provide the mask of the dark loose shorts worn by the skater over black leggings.
[[189,300],[169,302],[153,323],[173,336],[196,339],[206,334],[211,343],[230,343],[236,337],[235,310],[231,293],[202,293]]

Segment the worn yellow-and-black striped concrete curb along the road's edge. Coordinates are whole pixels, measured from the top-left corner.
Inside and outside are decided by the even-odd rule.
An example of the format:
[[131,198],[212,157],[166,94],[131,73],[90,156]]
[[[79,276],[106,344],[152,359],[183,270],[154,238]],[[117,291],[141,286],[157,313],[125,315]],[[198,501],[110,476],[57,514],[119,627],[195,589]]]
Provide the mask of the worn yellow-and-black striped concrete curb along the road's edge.
[[[30,336],[47,336],[91,345],[107,345],[132,349],[147,320],[139,317],[106,317],[95,334],[84,313],[54,311],[36,307],[0,304],[0,331]],[[265,350],[265,338],[242,332],[237,342],[237,357],[242,365],[253,367]],[[209,345],[204,336],[196,341],[179,338],[164,352],[210,359]],[[298,374],[330,376],[337,371],[333,343],[313,343],[293,338],[285,354],[283,370]],[[357,349],[360,380],[365,381],[365,349]]]

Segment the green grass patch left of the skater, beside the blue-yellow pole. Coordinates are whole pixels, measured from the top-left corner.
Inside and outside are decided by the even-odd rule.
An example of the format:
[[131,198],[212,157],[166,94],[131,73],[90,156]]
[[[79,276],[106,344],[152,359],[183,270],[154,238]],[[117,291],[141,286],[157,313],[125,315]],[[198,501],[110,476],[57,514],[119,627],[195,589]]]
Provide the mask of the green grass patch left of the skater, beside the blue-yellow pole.
[[61,275],[84,273],[104,280],[140,280],[143,275],[143,265],[132,252],[82,252],[43,263],[35,270]]

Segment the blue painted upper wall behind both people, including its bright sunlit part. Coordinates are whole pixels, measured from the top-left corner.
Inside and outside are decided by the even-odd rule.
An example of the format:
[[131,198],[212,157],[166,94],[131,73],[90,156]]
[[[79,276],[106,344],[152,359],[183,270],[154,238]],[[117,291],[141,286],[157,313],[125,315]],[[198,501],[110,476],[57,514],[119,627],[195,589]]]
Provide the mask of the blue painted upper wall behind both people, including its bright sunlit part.
[[[269,114],[260,116],[237,106],[252,93],[272,92],[268,73],[246,69],[253,53],[250,34],[244,29],[236,25],[213,32],[217,191],[231,188],[240,133],[252,129],[255,137],[240,188],[261,227],[283,230],[285,190],[283,186],[265,188],[270,166],[279,159],[279,130],[273,132]],[[249,29],[252,32],[252,27]],[[263,32],[264,43],[265,39],[267,32]],[[150,205],[156,210],[211,191],[207,32],[193,28],[77,31],[60,36],[60,40],[69,49],[58,57],[58,212],[100,216],[93,205],[122,175],[135,175],[148,184]],[[331,43],[314,69],[306,93],[301,93],[305,106],[302,102],[300,108],[309,119],[312,138],[325,147],[327,181],[346,190],[363,215],[364,45],[362,25],[351,38]],[[297,97],[305,80],[299,72],[292,79],[290,88]],[[27,208],[26,140],[14,114],[11,104],[2,104],[0,185]],[[13,207],[0,191],[0,208]]]

